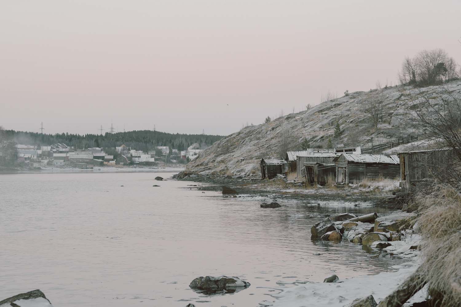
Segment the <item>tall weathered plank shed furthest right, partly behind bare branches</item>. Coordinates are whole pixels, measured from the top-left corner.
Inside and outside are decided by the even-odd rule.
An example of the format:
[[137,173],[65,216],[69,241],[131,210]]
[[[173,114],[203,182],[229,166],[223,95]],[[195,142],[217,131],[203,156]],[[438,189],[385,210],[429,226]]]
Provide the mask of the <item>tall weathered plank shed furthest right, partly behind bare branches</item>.
[[434,177],[449,172],[454,158],[452,149],[400,152],[402,191],[407,192],[422,183],[430,184]]

